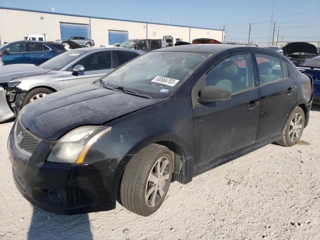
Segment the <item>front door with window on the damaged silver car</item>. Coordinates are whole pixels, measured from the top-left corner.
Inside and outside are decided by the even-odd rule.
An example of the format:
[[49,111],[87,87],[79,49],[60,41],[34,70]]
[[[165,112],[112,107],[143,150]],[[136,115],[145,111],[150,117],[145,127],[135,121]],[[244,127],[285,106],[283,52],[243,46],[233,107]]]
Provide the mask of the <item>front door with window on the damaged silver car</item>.
[[[113,54],[111,50],[104,50],[90,53],[77,60],[63,71],[64,88],[93,82],[111,71],[114,67],[112,56]],[[73,73],[72,68],[75,65],[83,65],[84,72]]]

